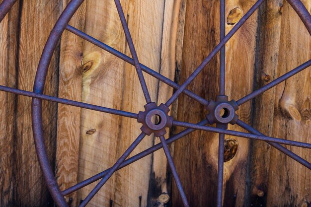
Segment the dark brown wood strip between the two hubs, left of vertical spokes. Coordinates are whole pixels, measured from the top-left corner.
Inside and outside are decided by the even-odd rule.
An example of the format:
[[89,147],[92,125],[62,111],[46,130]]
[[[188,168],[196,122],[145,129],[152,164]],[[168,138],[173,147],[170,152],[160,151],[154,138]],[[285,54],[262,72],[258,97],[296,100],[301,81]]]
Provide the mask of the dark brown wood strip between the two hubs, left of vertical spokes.
[[[182,68],[180,83],[203,61],[216,45],[214,19],[216,1],[186,1]],[[217,59],[188,86],[188,89],[206,99],[217,94]],[[178,99],[177,119],[197,123],[205,118],[205,108],[191,98],[181,94]],[[179,132],[181,129],[176,129]],[[203,207],[213,204],[216,197],[216,166],[209,155],[215,135],[196,131],[174,144],[174,162],[190,206]],[[216,139],[215,139],[216,140]],[[216,148],[216,146],[215,146]],[[204,181],[204,182],[202,182]],[[183,206],[175,183],[172,182],[172,206]]]

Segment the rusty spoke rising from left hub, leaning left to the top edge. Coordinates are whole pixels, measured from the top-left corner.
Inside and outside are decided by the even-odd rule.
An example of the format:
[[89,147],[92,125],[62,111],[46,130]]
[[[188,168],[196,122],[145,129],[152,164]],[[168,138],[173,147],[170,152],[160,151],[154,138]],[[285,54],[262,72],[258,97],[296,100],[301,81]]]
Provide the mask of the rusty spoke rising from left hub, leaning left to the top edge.
[[137,74],[138,74],[138,78],[139,78],[139,81],[141,83],[141,86],[142,86],[142,89],[143,89],[143,92],[144,92],[144,96],[145,96],[146,102],[147,103],[151,103],[150,94],[149,94],[149,91],[148,91],[148,88],[147,88],[147,84],[146,84],[146,81],[145,81],[145,78],[144,78],[144,75],[143,75],[140,63],[138,61],[137,53],[136,53],[136,50],[135,50],[135,46],[134,46],[134,43],[133,43],[133,40],[132,40],[132,37],[131,37],[131,33],[130,33],[130,30],[129,30],[129,27],[127,25],[127,22],[126,22],[126,19],[125,19],[125,16],[124,16],[122,5],[120,3],[120,0],[114,0],[114,2],[116,4],[116,7],[117,7],[117,10],[118,10],[118,13],[119,13],[121,24],[122,24],[122,27],[123,27],[123,30],[124,30],[124,33],[125,33],[125,37],[126,37],[126,40],[128,42],[128,45],[129,45],[129,48],[130,48],[130,51],[131,51],[131,54],[132,54],[132,57],[133,57],[133,60],[134,60],[134,65],[135,65],[135,68],[136,68],[136,71],[137,71]]

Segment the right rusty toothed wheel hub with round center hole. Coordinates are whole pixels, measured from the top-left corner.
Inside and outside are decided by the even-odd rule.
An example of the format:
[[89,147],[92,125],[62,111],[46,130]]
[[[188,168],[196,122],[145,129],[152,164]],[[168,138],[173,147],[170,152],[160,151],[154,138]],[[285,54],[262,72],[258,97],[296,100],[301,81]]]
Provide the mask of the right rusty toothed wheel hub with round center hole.
[[209,124],[215,124],[219,128],[228,128],[228,124],[234,125],[238,119],[235,111],[238,110],[238,105],[234,100],[228,101],[228,96],[217,96],[216,101],[210,100],[206,109],[209,113],[206,118]]

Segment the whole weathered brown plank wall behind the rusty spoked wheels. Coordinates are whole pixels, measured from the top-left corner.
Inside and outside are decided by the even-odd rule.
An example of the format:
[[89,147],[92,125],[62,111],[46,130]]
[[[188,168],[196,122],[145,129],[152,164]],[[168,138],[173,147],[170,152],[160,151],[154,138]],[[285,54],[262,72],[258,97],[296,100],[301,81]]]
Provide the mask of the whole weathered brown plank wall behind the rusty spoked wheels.
[[[69,0],[19,0],[0,24],[0,84],[32,90],[45,41]],[[227,32],[256,0],[226,0]],[[311,0],[302,0],[311,11]],[[219,0],[122,0],[139,59],[183,83],[219,42]],[[113,0],[86,0],[71,25],[130,56]],[[238,100],[311,59],[311,37],[286,0],[266,0],[226,45],[226,94]],[[218,93],[219,56],[188,88]],[[171,87],[145,75],[151,97]],[[137,113],[145,100],[135,68],[65,32],[45,94]],[[52,207],[37,162],[31,99],[0,92],[0,207]],[[108,167],[140,134],[135,120],[44,101],[45,139],[61,189]],[[180,121],[204,119],[203,106],[181,95]],[[243,104],[241,120],[268,136],[311,142],[311,70]],[[230,129],[242,131],[238,126]],[[182,129],[173,128],[170,135]],[[168,137],[168,136],[167,136]],[[214,207],[218,135],[194,132],[171,145],[191,207]],[[226,136],[224,206],[307,207],[311,171],[261,141]],[[145,138],[132,155],[159,142]],[[230,154],[233,148],[236,154]],[[311,162],[311,150],[290,147]],[[181,207],[162,150],[117,171],[89,207]],[[76,207],[95,184],[66,197]],[[165,195],[168,195],[168,197]]]

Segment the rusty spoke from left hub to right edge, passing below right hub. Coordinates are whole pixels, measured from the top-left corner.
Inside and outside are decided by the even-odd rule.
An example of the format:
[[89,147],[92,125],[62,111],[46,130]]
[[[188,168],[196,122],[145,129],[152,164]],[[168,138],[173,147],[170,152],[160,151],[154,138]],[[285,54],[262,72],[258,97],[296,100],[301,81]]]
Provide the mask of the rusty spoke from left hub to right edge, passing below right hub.
[[241,138],[252,138],[252,139],[276,142],[276,143],[280,143],[280,144],[287,144],[287,145],[299,146],[299,147],[311,149],[311,143],[304,143],[304,142],[300,142],[300,141],[286,140],[286,139],[282,139],[282,138],[272,138],[272,137],[267,137],[267,136],[262,136],[262,135],[253,135],[253,134],[248,134],[248,133],[243,133],[243,132],[236,132],[236,131],[232,131],[232,130],[224,130],[224,129],[220,129],[220,128],[201,126],[201,125],[197,125],[197,124],[191,124],[191,123],[179,122],[179,121],[173,121],[173,126],[193,128],[193,129],[197,129],[197,130],[222,133],[222,134],[232,135],[232,136],[241,137]]

